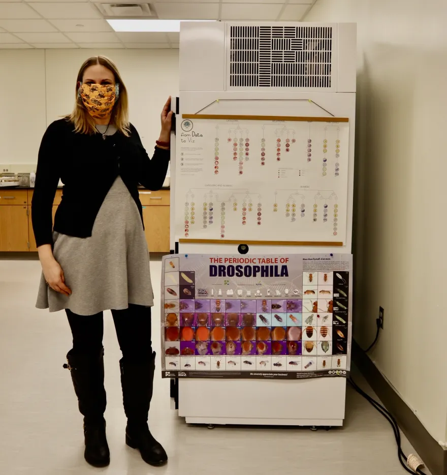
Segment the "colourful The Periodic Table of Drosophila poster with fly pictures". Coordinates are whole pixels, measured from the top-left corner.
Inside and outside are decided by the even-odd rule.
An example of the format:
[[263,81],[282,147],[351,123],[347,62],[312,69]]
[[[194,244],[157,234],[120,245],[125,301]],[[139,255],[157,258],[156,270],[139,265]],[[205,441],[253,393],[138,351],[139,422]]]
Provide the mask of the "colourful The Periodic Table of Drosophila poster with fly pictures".
[[349,254],[165,256],[162,376],[346,377],[351,289]]

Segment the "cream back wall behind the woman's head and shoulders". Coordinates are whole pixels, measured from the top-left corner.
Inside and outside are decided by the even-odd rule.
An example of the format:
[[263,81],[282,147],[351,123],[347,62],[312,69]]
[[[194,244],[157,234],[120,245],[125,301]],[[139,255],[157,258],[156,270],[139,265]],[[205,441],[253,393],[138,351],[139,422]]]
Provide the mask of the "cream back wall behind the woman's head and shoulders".
[[163,105],[178,95],[178,50],[0,50],[0,164],[25,171],[20,164],[37,163],[46,126],[71,112],[78,70],[97,54],[117,64],[130,119],[151,154]]

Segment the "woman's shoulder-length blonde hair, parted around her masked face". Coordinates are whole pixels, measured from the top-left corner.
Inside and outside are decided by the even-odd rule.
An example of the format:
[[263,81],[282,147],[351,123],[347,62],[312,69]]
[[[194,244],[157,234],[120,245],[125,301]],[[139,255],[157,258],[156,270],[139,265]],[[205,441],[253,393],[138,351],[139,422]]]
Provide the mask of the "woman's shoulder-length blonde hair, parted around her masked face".
[[113,106],[110,122],[115,124],[117,130],[123,133],[126,137],[129,136],[129,99],[127,97],[126,87],[121,79],[118,68],[115,66],[112,60],[106,56],[92,56],[88,60],[84,61],[81,69],[79,70],[78,77],[76,79],[76,100],[73,112],[66,116],[67,120],[75,125],[75,131],[81,134],[94,134],[97,132],[93,118],[88,113],[82,98],[78,92],[78,83],[82,83],[85,70],[93,65],[100,64],[111,71],[115,77],[115,82],[119,83],[119,95],[118,99]]

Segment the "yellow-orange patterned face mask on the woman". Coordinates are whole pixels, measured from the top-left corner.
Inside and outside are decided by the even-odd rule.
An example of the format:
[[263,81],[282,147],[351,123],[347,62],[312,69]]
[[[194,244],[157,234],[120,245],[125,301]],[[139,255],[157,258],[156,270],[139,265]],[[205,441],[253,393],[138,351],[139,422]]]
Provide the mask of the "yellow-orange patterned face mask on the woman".
[[119,84],[81,84],[78,91],[88,113],[93,118],[105,118],[118,99]]

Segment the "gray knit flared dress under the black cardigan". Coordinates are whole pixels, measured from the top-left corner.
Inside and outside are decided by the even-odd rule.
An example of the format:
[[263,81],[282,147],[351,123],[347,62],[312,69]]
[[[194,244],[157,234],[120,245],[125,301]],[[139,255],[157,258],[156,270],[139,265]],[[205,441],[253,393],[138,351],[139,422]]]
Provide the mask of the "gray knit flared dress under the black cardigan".
[[[105,126],[98,130],[104,133]],[[107,135],[116,132],[109,127]],[[129,304],[151,307],[149,251],[138,207],[118,176],[95,219],[92,235],[80,238],[53,232],[53,255],[72,294],[49,288],[42,274],[37,308],[78,315],[122,310]]]

